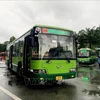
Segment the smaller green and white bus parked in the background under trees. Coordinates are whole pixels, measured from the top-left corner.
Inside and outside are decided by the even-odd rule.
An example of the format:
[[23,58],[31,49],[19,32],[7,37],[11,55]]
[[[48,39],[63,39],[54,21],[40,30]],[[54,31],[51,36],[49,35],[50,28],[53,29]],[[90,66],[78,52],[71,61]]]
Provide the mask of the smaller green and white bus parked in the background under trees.
[[79,64],[95,64],[97,62],[96,51],[90,48],[78,49]]

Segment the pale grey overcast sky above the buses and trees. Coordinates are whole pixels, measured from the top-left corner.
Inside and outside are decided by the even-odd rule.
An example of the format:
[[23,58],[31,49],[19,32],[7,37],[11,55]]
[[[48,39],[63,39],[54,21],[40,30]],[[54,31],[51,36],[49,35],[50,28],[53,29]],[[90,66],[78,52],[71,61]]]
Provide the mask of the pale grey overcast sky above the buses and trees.
[[35,24],[59,26],[78,32],[100,25],[99,0],[1,0],[0,43],[18,38]]

